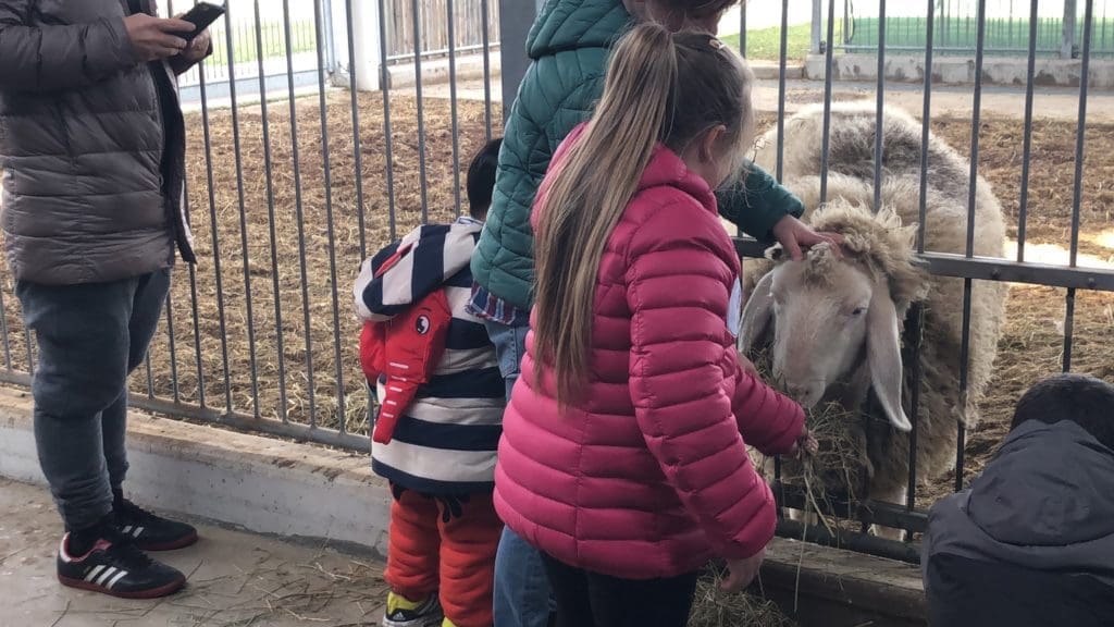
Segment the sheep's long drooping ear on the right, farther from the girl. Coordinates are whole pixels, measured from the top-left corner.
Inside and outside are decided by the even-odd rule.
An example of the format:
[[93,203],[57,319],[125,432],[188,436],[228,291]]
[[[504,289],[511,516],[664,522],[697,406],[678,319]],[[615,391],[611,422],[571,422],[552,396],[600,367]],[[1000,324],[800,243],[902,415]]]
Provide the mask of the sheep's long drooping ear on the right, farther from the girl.
[[886,417],[898,431],[911,431],[912,425],[901,407],[901,336],[893,299],[885,283],[874,288],[867,312],[867,361],[870,380]]

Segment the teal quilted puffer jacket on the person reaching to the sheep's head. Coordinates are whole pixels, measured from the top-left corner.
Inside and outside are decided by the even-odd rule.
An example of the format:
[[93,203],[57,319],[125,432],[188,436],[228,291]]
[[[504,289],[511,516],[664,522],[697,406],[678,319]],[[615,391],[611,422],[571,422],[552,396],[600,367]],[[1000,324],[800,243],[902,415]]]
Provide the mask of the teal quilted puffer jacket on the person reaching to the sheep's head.
[[[557,146],[592,116],[610,47],[633,23],[622,0],[548,0],[530,29],[532,62],[507,119],[491,209],[471,262],[476,282],[510,305],[534,302],[534,196]],[[720,213],[769,241],[773,225],[803,206],[765,172],[747,167],[744,181],[717,194]]]

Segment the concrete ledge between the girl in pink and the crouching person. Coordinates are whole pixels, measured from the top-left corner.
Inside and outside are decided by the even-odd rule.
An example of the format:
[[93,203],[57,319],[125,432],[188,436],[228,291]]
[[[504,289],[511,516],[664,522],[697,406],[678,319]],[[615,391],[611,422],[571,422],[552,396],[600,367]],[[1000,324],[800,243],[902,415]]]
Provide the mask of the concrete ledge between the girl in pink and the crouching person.
[[920,569],[905,562],[778,538],[755,587],[801,627],[928,626]]

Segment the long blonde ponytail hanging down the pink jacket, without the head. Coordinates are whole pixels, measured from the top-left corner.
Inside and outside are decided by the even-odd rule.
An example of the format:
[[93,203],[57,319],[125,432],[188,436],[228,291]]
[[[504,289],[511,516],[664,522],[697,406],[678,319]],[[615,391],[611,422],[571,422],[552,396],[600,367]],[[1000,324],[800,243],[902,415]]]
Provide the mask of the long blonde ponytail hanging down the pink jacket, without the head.
[[635,28],[614,52],[596,115],[550,170],[559,175],[539,208],[534,338],[538,359],[557,372],[563,403],[575,397],[588,361],[604,247],[664,134],[676,78],[670,32]]

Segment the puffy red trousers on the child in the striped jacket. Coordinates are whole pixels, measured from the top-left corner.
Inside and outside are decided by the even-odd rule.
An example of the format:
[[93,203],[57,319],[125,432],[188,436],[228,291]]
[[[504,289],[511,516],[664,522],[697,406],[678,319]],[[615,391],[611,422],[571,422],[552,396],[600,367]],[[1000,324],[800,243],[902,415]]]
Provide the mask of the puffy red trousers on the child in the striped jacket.
[[391,590],[412,601],[437,592],[457,627],[490,627],[502,533],[491,494],[457,500],[394,492],[384,573]]

